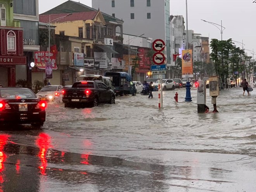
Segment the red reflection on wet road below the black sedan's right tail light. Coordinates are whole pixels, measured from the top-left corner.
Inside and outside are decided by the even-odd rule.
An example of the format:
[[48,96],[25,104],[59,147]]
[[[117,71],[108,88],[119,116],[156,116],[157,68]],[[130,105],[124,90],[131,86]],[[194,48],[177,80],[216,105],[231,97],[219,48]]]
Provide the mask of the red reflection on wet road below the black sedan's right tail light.
[[41,165],[38,167],[42,175],[46,175],[45,170],[47,167],[47,150],[52,146],[51,137],[47,133],[40,133],[38,139],[36,139],[36,145],[39,147],[40,151],[38,157],[40,157]]

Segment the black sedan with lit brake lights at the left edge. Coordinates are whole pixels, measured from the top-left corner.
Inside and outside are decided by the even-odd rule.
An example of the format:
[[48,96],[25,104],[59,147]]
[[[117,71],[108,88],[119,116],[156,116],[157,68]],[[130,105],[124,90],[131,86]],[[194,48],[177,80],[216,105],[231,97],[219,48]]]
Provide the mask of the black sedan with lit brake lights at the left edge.
[[0,88],[0,124],[42,126],[46,106],[28,88]]

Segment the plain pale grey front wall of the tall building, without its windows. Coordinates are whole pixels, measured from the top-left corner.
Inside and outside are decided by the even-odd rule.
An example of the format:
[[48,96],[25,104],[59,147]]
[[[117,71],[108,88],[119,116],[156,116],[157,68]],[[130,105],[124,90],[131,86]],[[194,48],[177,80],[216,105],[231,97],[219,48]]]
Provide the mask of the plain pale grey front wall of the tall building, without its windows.
[[[126,34],[136,36],[145,33],[144,36],[153,40],[165,40],[165,0],[151,0],[150,7],[147,7],[146,0],[134,3],[134,7],[130,7],[130,0],[115,0],[115,7],[112,7],[111,0],[92,0],[92,7],[123,19]],[[131,13],[134,13],[134,19],[131,19]],[[151,14],[151,19],[147,19],[147,13]]]

